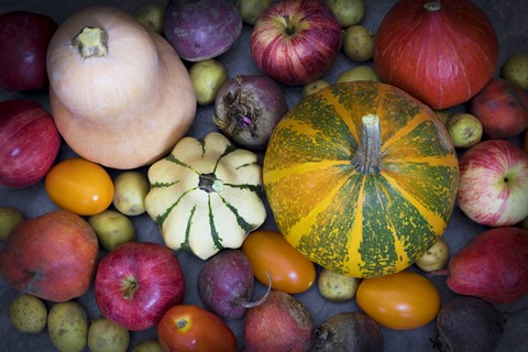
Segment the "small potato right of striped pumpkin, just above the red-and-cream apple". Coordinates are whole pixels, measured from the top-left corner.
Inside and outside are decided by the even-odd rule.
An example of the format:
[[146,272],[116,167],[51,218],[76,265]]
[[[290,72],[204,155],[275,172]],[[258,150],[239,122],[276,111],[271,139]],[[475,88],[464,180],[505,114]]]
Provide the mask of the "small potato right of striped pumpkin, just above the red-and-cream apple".
[[471,113],[453,114],[448,121],[447,129],[455,147],[471,147],[482,140],[482,123]]

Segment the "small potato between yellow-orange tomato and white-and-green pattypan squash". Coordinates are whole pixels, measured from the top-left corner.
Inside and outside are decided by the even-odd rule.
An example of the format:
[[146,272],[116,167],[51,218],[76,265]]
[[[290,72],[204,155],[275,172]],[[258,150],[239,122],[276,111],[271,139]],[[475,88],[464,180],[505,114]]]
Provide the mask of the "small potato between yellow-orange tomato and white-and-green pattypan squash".
[[123,172],[113,180],[112,204],[125,216],[139,216],[145,212],[145,197],[150,187],[148,179],[142,173]]

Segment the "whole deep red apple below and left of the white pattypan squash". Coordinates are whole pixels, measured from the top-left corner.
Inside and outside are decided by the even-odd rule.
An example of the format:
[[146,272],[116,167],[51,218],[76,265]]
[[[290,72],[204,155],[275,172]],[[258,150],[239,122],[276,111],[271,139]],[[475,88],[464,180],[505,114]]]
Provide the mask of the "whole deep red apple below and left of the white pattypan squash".
[[121,327],[140,331],[156,326],[185,296],[179,261],[165,245],[128,242],[109,252],[97,268],[96,302]]

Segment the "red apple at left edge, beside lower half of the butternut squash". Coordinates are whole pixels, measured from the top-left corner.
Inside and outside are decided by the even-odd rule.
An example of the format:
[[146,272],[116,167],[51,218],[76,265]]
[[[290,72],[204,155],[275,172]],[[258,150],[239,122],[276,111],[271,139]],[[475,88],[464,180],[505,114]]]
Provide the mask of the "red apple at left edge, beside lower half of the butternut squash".
[[61,147],[55,121],[36,101],[0,102],[0,185],[21,188],[41,180]]

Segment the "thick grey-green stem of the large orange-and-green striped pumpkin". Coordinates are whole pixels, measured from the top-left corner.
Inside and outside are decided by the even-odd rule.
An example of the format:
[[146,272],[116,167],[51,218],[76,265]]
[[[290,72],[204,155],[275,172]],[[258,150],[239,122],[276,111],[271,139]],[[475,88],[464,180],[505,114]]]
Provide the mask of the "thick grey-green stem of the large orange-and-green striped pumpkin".
[[382,170],[382,133],[380,118],[376,114],[364,116],[361,141],[352,157],[352,165],[362,174],[377,174]]

